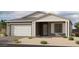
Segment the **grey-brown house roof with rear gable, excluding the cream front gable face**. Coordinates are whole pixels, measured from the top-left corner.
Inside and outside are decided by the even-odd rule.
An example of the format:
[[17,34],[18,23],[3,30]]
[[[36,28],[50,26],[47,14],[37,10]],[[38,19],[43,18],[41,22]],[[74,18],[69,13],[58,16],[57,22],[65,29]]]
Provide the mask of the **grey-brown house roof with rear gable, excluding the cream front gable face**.
[[[56,17],[59,17],[59,18],[63,18],[63,19],[67,19],[67,18],[64,18],[64,17],[57,16],[55,14],[36,11],[36,12],[29,14],[25,17],[13,19],[13,20],[7,20],[6,22],[32,22],[34,20],[38,20],[40,18],[44,18],[44,17],[50,16],[50,15],[53,15],[53,16],[56,16]],[[67,20],[69,20],[69,19],[67,19]]]

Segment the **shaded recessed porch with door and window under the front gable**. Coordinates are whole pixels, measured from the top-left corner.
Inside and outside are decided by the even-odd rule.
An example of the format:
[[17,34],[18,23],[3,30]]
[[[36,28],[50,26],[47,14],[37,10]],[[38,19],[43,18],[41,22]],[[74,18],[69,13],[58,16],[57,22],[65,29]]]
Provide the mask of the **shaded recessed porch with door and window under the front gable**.
[[67,30],[65,22],[36,22],[36,36],[67,36]]

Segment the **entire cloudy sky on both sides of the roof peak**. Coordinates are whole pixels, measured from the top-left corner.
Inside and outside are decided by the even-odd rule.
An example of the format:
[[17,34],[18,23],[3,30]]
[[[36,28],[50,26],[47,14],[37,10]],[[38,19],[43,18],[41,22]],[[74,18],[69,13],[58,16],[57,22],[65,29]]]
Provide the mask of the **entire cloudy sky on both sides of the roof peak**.
[[[10,20],[24,17],[28,14],[33,13],[34,11],[0,11],[0,19]],[[79,12],[78,11],[45,11],[46,13],[54,13],[65,18],[69,18],[73,24],[79,22]]]

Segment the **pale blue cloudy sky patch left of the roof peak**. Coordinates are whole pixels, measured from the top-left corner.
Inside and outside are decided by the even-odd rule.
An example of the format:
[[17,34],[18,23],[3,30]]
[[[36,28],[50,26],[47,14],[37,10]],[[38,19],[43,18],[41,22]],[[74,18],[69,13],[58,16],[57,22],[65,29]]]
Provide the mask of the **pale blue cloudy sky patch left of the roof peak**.
[[16,19],[24,17],[33,11],[0,11],[0,19]]

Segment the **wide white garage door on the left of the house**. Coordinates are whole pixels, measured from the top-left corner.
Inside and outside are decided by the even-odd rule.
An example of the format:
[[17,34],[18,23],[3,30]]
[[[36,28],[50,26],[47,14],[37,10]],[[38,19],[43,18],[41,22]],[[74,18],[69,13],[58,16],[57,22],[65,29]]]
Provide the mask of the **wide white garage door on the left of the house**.
[[31,25],[11,25],[11,36],[31,36]]

